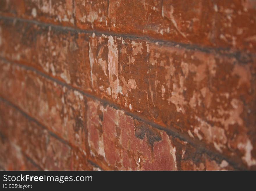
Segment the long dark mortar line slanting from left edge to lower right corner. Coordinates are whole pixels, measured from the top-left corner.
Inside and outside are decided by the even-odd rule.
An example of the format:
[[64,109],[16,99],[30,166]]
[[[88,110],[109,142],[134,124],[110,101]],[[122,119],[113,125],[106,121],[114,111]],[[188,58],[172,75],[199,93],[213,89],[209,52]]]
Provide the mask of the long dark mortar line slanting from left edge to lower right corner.
[[[118,106],[118,104],[116,104],[116,103],[113,103],[113,102],[111,102],[109,100],[106,100],[106,99],[101,99],[101,98],[99,98],[99,97],[97,97],[97,96],[95,96],[93,94],[83,92],[83,91],[81,91],[78,88],[74,88],[71,85],[68,85],[68,84],[66,84],[66,83],[64,83],[62,81],[59,81],[59,80],[51,77],[51,76],[48,76],[47,74],[42,73],[42,72],[38,71],[37,69],[35,69],[33,67],[22,65],[22,64],[13,62],[13,61],[8,61],[8,60],[6,60],[5,58],[2,58],[2,57],[0,57],[0,59],[3,60],[3,62],[5,62],[5,63],[10,63],[12,65],[17,65],[17,66],[22,67],[22,68],[24,68],[26,70],[35,72],[35,73],[45,77],[46,79],[48,79],[50,81],[56,82],[57,84],[59,84],[61,86],[65,86],[69,90],[78,91],[79,93],[83,94],[84,96],[89,97],[91,99],[98,100],[102,104],[109,105],[110,107],[113,107],[114,109],[123,110],[126,115],[128,115],[128,116],[130,116],[130,117],[132,117],[134,119],[137,119],[139,121],[145,122],[146,124],[152,126],[153,128],[165,131],[168,135],[172,135],[173,138],[177,137],[180,140],[188,142],[193,147],[195,147],[197,150],[200,150],[200,151],[202,151],[204,153],[207,153],[211,159],[218,160],[218,158],[220,158],[221,160],[226,160],[229,164],[231,164],[236,169],[241,169],[241,170],[247,169],[247,167],[245,165],[238,164],[237,162],[234,162],[234,160],[232,160],[232,159],[230,160],[229,157],[223,155],[222,153],[219,153],[218,151],[215,151],[214,149],[208,149],[205,143],[202,143],[202,142],[200,142],[198,140],[192,139],[191,137],[189,137],[189,135],[186,135],[186,134],[180,132],[179,130],[175,129],[172,126],[170,126],[170,128],[171,128],[170,129],[170,128],[166,128],[165,126],[156,124],[156,123],[152,122],[151,120],[147,119],[147,117],[144,117],[142,115],[138,116],[137,114],[132,113],[132,112],[130,112],[129,110],[127,110],[125,108],[120,108],[120,106]],[[180,128],[182,128],[182,127],[180,127]],[[241,161],[240,158],[239,158],[239,161]]]

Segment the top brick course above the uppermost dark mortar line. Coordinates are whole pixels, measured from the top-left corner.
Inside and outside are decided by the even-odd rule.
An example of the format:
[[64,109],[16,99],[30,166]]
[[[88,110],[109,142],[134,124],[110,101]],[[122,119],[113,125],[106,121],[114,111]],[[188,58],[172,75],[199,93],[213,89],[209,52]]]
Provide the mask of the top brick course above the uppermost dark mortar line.
[[[184,6],[186,5],[186,6]],[[3,16],[255,52],[256,4],[218,1],[1,1]],[[74,17],[73,17],[74,13]]]

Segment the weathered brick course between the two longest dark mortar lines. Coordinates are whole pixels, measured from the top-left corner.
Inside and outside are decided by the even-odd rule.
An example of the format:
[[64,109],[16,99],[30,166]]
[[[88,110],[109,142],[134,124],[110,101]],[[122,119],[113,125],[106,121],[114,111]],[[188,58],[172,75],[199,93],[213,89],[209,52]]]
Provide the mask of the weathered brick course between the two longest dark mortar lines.
[[[25,27],[7,21],[3,26]],[[1,56],[36,67],[163,127],[175,128],[236,161],[255,165],[254,56],[235,58],[150,41],[37,27],[26,25],[34,31],[30,42],[38,44],[35,49],[22,42],[25,33],[14,32],[13,45],[5,48],[8,40],[2,40]],[[2,39],[10,38],[7,31],[2,30]],[[47,40],[60,44],[58,58],[49,56],[54,51],[49,51]],[[15,44],[21,44],[17,51]],[[23,53],[26,49],[31,54]],[[18,56],[22,54],[34,58]]]

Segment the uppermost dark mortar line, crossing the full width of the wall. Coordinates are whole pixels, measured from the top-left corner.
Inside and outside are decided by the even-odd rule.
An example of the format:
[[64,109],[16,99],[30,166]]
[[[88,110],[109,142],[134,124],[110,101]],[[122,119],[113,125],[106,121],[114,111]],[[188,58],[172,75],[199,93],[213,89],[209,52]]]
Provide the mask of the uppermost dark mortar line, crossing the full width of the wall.
[[218,53],[219,55],[222,55],[222,56],[236,58],[237,60],[239,60],[239,54],[241,54],[241,53],[246,54],[247,56],[256,56],[256,53],[245,53],[246,50],[240,51],[237,49],[232,50],[231,48],[203,47],[203,46],[199,46],[196,44],[185,44],[185,43],[180,43],[180,42],[175,42],[175,41],[168,41],[168,40],[162,40],[162,39],[158,39],[158,38],[152,38],[147,35],[118,34],[118,33],[107,32],[107,31],[85,30],[85,29],[75,28],[75,27],[71,27],[71,26],[61,26],[61,25],[56,25],[56,24],[52,24],[52,23],[44,23],[44,22],[40,22],[40,21],[36,21],[36,20],[22,19],[22,18],[17,18],[17,17],[7,17],[7,16],[1,16],[1,15],[0,15],[0,19],[32,23],[32,24],[36,24],[36,25],[44,26],[44,27],[51,26],[51,27],[56,28],[61,31],[74,31],[77,33],[86,33],[86,34],[95,33],[95,35],[97,35],[97,36],[102,36],[104,34],[107,36],[115,36],[117,38],[121,37],[121,38],[125,38],[125,39],[147,40],[148,42],[158,43],[160,45],[164,45],[167,47],[176,47],[176,48],[180,47],[180,48],[184,48],[184,49],[188,49],[188,50],[197,50],[197,51],[201,51],[201,52],[205,52],[205,53],[214,52],[214,53]]

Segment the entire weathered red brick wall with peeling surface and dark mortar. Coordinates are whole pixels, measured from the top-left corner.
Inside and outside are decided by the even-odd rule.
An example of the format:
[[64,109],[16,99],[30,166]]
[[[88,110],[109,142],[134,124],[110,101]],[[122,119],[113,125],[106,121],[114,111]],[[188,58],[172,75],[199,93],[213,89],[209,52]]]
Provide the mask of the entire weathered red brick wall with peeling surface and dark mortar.
[[0,168],[256,169],[256,2],[0,0]]

